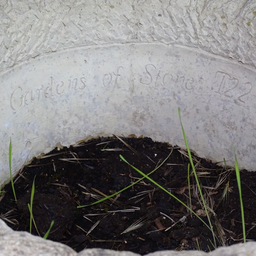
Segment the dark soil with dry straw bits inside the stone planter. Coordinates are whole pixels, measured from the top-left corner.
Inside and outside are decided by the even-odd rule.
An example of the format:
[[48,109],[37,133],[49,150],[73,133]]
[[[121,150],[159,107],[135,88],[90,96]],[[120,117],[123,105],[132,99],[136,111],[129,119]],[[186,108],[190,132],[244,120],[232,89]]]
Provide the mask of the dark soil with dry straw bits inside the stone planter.
[[[164,161],[172,149],[167,161],[150,177],[186,205],[189,204],[189,161],[182,154],[186,154],[185,151],[178,147],[172,148],[167,143],[153,142],[150,138],[122,139],[136,153],[113,137],[93,139],[82,145],[64,147],[60,151],[56,148],[47,154],[56,155],[33,159],[30,165],[23,168],[14,184],[17,203],[13,200],[11,185],[4,188],[0,211],[1,216],[6,218],[7,225],[14,230],[29,232],[28,203],[36,176],[32,210],[40,235],[44,236],[54,220],[48,239],[65,243],[77,252],[84,248],[128,250],[140,254],[167,249],[196,250],[197,241],[201,250],[213,250],[213,235],[204,223],[146,178],[124,190],[118,198],[114,196],[92,206],[77,208],[97,201],[95,198],[111,195],[142,177],[121,160],[120,154],[130,164],[148,174]],[[122,150],[102,151],[103,149]],[[217,246],[242,242],[241,209],[235,171],[231,168],[226,170],[195,156],[194,164],[197,165],[196,171],[207,204],[215,213],[210,213],[210,218],[219,239],[216,239]],[[240,175],[246,238],[254,240],[256,173],[244,170]],[[224,195],[221,200],[227,183],[230,191],[227,198]],[[202,210],[193,175],[190,176],[190,188],[194,211]],[[129,209],[131,210],[127,211]],[[11,212],[6,214],[8,211]],[[197,212],[200,214],[200,211]],[[201,215],[204,213],[201,211]],[[207,217],[201,218],[209,225]],[[139,220],[144,225],[124,232]],[[222,229],[218,229],[216,225]],[[167,228],[169,229],[166,230]],[[219,235],[221,232],[222,237]],[[37,235],[33,223],[32,233]]]

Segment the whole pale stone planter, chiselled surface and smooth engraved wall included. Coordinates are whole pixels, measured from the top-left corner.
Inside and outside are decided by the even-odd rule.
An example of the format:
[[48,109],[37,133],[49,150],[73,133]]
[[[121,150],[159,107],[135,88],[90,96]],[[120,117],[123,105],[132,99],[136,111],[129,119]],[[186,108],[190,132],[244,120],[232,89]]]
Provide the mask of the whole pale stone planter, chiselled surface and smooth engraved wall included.
[[[97,136],[184,146],[178,108],[198,155],[233,165],[234,145],[240,167],[256,169],[253,1],[2,0],[0,7],[0,184],[9,181],[10,137],[14,174],[56,145]],[[63,247],[47,241],[39,253],[24,242],[30,235],[1,225],[3,251],[13,239],[29,255]],[[22,255],[17,243],[8,255]],[[255,254],[254,243],[233,248],[240,249],[225,255]],[[59,255],[76,254],[70,250]]]

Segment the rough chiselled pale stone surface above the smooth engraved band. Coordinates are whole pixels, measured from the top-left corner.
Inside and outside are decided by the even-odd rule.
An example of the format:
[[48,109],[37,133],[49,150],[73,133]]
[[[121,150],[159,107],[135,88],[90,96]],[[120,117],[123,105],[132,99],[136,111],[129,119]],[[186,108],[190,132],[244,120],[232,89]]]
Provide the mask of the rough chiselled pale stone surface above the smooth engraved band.
[[0,1],[1,69],[74,46],[163,42],[255,66],[255,1]]

